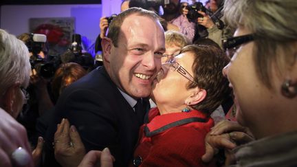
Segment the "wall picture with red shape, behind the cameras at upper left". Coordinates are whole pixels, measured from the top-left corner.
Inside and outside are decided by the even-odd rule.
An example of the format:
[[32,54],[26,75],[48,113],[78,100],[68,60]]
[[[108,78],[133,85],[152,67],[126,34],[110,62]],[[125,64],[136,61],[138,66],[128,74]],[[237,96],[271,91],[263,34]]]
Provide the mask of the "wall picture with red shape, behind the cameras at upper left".
[[63,54],[72,43],[74,34],[75,18],[31,18],[29,30],[34,34],[47,36],[47,55],[58,56]]

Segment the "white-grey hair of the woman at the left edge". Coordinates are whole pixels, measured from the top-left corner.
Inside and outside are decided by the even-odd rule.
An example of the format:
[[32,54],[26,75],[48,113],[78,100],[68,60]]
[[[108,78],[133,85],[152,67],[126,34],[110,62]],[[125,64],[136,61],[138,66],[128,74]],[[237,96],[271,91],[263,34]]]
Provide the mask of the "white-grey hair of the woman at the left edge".
[[0,95],[16,82],[28,87],[30,69],[28,47],[16,36],[0,29]]

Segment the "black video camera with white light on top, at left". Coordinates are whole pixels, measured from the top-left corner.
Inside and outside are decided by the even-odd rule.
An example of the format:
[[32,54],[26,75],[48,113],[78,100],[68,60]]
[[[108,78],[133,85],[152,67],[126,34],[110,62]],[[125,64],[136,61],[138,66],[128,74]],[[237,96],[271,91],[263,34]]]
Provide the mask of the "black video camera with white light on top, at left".
[[52,78],[56,67],[60,64],[55,56],[48,56],[48,60],[42,58],[39,54],[45,47],[47,37],[44,34],[30,34],[30,40],[26,43],[30,56],[31,69],[35,69],[37,75],[43,78]]

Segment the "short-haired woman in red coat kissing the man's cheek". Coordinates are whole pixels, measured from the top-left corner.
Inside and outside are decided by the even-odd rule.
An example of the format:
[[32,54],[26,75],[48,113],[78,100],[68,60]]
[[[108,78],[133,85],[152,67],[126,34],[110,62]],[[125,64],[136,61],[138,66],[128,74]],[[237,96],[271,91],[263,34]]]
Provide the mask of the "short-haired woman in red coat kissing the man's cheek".
[[212,166],[201,156],[210,114],[229,93],[221,73],[227,64],[221,49],[189,45],[162,65],[151,94],[157,108],[140,129],[131,166]]

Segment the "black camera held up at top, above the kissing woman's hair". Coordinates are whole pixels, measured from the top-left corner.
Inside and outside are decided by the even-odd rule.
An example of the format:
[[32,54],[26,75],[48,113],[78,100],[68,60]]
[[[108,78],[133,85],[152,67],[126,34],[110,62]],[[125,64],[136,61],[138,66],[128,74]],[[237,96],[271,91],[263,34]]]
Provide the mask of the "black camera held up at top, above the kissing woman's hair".
[[186,15],[189,21],[196,22],[199,17],[203,17],[197,11],[208,13],[207,9],[203,6],[201,2],[195,2],[192,5],[188,5],[187,7],[188,14]]

